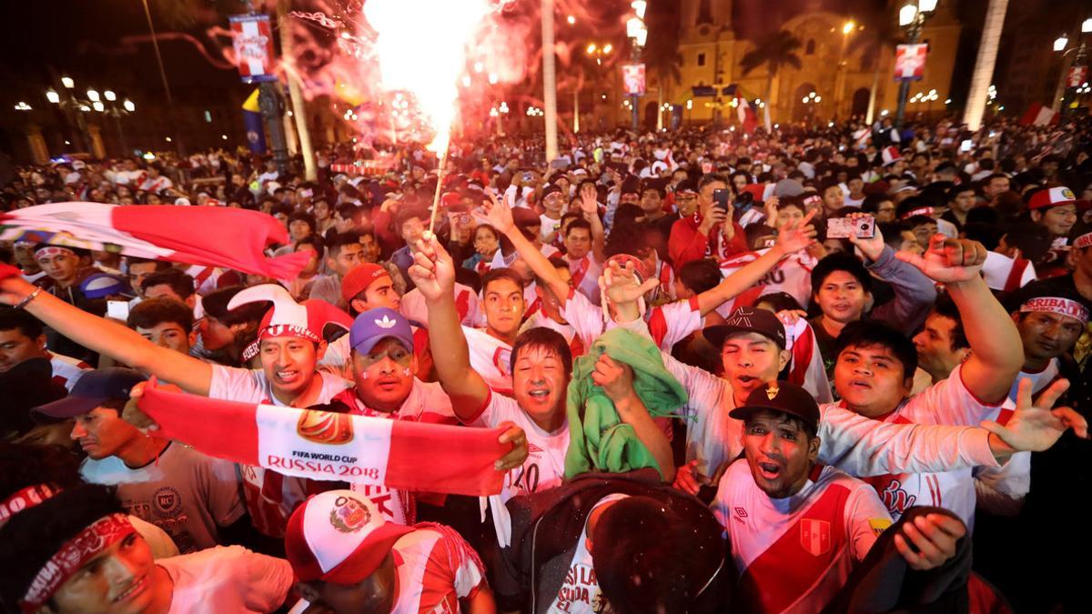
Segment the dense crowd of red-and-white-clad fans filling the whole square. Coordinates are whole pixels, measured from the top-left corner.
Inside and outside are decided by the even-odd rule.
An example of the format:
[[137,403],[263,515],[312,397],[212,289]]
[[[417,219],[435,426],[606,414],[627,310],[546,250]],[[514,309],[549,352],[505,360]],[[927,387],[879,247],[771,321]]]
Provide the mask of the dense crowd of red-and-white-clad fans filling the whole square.
[[[256,210],[268,257],[310,255],[273,279],[4,235],[4,611],[1087,607],[1092,122],[377,147],[310,181],[209,151],[3,186]],[[340,414],[491,428],[503,485],[241,462],[237,432],[158,435],[152,377],[331,445]]]

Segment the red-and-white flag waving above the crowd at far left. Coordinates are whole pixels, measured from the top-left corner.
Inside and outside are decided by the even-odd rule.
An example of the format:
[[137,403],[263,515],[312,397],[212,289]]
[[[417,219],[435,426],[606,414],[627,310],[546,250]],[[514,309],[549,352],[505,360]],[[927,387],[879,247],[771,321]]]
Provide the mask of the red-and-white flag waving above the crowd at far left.
[[284,226],[259,211],[223,206],[55,202],[0,214],[0,240],[20,238],[276,280],[294,279],[311,256],[266,258],[268,246],[288,243]]

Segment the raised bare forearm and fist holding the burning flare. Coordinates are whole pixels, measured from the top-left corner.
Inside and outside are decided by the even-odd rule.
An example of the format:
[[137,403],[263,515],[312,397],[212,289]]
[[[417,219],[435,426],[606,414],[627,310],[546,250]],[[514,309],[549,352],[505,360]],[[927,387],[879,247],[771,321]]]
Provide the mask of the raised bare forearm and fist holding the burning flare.
[[[428,342],[440,386],[461,421],[471,421],[489,399],[489,386],[471,368],[466,336],[455,308],[455,264],[436,236],[422,238],[410,279],[428,303]],[[439,349],[443,349],[439,351]]]

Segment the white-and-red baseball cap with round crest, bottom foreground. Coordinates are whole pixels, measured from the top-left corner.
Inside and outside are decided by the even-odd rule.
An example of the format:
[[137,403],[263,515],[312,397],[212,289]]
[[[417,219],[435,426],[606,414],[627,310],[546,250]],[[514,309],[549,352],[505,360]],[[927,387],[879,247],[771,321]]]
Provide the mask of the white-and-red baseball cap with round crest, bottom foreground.
[[288,519],[285,556],[300,581],[355,585],[382,565],[412,527],[388,522],[376,504],[352,491],[307,499]]

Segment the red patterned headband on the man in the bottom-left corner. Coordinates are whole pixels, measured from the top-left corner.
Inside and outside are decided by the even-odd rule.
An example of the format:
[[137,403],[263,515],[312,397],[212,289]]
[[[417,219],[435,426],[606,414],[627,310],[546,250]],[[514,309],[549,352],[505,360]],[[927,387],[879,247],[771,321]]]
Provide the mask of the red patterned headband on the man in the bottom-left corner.
[[20,601],[20,609],[26,613],[37,612],[88,560],[134,531],[123,513],[103,517],[80,531],[41,566]]

